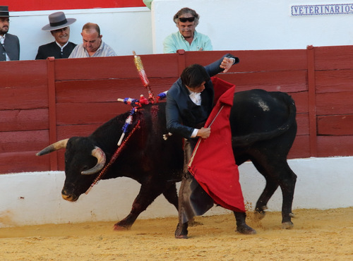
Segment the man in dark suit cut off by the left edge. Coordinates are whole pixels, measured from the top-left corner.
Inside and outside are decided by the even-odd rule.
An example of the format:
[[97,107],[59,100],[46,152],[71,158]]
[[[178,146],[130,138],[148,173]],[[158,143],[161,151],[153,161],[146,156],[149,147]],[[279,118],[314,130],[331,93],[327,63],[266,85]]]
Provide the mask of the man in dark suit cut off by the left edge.
[[8,6],[0,6],[0,61],[20,59],[20,41],[16,35],[8,33],[9,27]]

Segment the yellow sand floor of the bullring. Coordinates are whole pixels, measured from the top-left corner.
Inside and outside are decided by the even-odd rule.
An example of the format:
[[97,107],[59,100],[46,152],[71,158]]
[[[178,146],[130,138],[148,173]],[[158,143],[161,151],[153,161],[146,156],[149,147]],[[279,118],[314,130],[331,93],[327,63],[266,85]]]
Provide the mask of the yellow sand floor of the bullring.
[[138,219],[130,231],[114,222],[46,224],[0,229],[1,260],[353,260],[353,207],[295,210],[294,229],[280,227],[280,212],[258,232],[234,232],[232,214],[196,217],[189,239],[175,239],[177,217]]

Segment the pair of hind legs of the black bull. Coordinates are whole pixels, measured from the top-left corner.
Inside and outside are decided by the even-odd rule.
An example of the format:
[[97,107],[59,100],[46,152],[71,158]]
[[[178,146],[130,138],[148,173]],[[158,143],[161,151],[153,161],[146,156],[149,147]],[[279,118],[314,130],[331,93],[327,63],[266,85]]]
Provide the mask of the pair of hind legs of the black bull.
[[253,160],[253,164],[266,179],[265,189],[256,202],[256,212],[264,214],[268,200],[280,186],[282,190],[282,228],[292,228],[292,202],[297,175],[289,168],[286,159],[262,159],[260,162]]

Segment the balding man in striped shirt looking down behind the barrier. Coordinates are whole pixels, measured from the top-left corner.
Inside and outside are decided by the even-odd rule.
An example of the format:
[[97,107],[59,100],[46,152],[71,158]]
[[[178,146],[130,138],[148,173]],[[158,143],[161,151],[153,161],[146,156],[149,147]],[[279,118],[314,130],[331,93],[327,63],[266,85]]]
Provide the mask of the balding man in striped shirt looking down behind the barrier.
[[97,24],[83,25],[81,35],[83,44],[78,44],[68,58],[116,56],[112,47],[102,41],[100,27]]

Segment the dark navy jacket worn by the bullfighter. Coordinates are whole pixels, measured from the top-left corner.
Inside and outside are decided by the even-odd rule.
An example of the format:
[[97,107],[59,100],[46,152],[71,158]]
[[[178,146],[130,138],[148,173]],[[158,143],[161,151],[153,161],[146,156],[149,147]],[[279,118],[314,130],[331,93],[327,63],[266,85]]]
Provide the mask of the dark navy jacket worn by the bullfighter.
[[[205,66],[210,77],[224,71],[223,68],[220,68],[220,64],[225,57],[234,58],[235,63],[239,62],[239,59],[232,54],[225,54],[218,61]],[[209,80],[205,83],[205,90],[201,92],[201,106],[194,104],[189,95],[189,90],[181,83],[181,78],[167,92],[167,130],[184,138],[191,138],[195,128],[203,127],[200,125],[205,123],[213,109],[215,92],[212,81]]]

